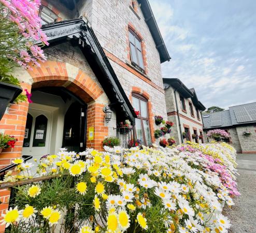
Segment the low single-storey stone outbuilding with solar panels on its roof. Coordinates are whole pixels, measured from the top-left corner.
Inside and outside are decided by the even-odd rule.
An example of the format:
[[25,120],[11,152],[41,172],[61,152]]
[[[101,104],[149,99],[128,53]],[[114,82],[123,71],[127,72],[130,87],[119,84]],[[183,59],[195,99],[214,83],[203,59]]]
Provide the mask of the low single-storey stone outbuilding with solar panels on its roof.
[[[211,129],[224,129],[230,134],[224,141],[233,145],[238,153],[256,153],[256,103],[229,107],[229,110],[204,113],[204,135]],[[244,132],[251,132],[245,136]]]

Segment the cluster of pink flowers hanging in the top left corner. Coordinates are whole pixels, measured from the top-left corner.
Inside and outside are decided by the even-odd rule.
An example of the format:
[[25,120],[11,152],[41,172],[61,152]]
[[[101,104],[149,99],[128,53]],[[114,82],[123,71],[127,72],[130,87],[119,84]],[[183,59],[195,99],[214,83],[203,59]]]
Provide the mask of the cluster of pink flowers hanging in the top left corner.
[[40,29],[41,19],[38,16],[40,0],[0,0],[0,4],[5,6],[9,20],[18,25],[21,37],[27,41],[27,50],[22,48],[18,51],[14,60],[25,68],[30,68],[29,63],[40,66],[38,62],[44,62],[46,57],[34,42],[41,41],[42,45],[49,45],[45,33]]

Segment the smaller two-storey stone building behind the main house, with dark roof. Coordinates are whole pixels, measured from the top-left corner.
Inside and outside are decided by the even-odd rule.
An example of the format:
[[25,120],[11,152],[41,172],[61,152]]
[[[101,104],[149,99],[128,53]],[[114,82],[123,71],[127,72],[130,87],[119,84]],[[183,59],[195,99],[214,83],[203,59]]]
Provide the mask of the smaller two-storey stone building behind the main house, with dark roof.
[[[188,89],[179,79],[163,79],[167,119],[172,121],[171,136],[178,144],[190,140],[203,143],[204,105],[198,100],[195,90]],[[196,136],[195,138],[192,138]]]

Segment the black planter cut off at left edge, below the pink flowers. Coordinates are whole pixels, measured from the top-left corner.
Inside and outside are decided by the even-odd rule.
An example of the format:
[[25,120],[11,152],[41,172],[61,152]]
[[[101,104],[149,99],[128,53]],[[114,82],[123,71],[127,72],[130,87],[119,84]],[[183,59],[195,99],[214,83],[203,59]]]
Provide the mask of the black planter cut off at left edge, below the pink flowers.
[[8,104],[13,103],[21,92],[20,86],[0,82],[0,120],[3,118]]

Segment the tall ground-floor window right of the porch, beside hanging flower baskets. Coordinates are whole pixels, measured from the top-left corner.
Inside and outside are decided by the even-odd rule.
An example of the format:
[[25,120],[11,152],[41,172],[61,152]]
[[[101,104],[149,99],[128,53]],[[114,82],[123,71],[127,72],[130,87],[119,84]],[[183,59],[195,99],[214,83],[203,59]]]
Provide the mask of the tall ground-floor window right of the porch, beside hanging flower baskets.
[[132,94],[133,107],[139,111],[136,118],[136,138],[144,145],[151,145],[151,134],[149,128],[148,100],[136,93]]

